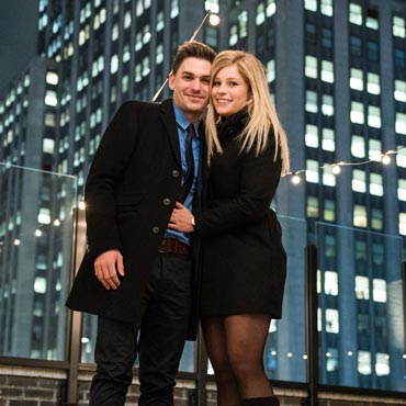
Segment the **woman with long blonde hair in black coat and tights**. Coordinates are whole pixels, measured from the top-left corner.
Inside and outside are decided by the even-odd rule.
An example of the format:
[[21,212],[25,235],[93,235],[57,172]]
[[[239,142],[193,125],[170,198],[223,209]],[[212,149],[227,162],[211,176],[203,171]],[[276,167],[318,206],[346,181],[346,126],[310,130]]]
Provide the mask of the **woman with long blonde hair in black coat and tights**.
[[193,216],[177,203],[170,227],[204,238],[201,319],[217,404],[279,405],[262,356],[282,313],[286,258],[270,204],[289,150],[255,56],[225,50],[214,59],[206,138],[206,210]]

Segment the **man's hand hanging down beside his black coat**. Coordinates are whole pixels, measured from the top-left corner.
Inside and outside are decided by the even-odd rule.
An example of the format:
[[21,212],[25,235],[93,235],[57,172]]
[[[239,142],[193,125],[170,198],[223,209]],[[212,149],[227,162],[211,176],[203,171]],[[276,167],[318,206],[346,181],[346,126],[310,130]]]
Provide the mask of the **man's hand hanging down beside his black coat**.
[[120,286],[117,272],[124,277],[123,256],[117,249],[111,249],[95,258],[94,274],[108,291]]

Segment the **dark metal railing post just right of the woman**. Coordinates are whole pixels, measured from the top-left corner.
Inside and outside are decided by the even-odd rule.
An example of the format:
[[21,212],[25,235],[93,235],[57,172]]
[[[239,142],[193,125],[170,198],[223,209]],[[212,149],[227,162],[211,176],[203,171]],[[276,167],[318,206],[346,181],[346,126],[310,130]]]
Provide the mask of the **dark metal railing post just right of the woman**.
[[306,275],[306,353],[307,353],[307,382],[308,405],[317,406],[318,388],[318,331],[317,331],[317,248],[305,247]]

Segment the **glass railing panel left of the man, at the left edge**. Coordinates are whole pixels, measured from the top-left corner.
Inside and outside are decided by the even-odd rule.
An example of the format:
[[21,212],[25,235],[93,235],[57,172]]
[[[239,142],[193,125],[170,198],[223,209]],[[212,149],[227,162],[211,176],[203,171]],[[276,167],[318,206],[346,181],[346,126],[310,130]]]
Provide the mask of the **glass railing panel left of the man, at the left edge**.
[[65,360],[76,178],[0,165],[0,356]]

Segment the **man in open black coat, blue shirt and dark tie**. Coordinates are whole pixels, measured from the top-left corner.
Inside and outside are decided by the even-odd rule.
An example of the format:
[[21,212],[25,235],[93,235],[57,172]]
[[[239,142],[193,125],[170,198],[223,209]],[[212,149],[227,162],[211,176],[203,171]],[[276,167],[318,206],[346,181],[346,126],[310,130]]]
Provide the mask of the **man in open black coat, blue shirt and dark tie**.
[[90,405],[124,405],[137,353],[139,405],[173,404],[184,340],[198,328],[191,251],[199,241],[191,247],[189,234],[167,225],[177,201],[200,210],[196,128],[214,56],[198,42],[180,46],[169,76],[173,100],[124,103],[94,156],[84,192],[88,250],[67,302],[99,316]]

